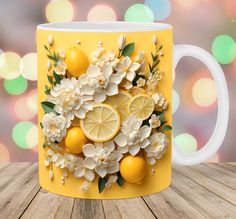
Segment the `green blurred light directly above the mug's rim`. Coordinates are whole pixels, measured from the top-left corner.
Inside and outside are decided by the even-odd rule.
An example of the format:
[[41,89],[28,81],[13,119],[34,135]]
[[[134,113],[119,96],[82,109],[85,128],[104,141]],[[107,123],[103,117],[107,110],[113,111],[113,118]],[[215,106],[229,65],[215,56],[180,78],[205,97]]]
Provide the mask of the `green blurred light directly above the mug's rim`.
[[152,10],[144,4],[131,5],[125,12],[125,21],[154,22]]

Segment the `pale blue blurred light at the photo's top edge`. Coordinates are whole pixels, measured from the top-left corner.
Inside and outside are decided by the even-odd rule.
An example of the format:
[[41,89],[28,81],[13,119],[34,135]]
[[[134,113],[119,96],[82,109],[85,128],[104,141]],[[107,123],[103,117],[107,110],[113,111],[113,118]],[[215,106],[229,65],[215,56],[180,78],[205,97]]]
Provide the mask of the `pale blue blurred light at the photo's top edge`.
[[169,0],[146,0],[145,5],[152,9],[156,21],[165,20],[171,12]]

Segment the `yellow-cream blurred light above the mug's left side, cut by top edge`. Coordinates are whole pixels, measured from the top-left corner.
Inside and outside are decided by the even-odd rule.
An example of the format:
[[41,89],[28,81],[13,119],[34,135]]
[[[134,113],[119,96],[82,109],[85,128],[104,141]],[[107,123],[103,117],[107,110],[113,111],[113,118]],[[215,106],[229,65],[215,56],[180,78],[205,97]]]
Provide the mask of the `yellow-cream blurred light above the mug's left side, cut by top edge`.
[[69,22],[74,17],[74,7],[68,0],[50,1],[46,7],[46,18],[49,22]]

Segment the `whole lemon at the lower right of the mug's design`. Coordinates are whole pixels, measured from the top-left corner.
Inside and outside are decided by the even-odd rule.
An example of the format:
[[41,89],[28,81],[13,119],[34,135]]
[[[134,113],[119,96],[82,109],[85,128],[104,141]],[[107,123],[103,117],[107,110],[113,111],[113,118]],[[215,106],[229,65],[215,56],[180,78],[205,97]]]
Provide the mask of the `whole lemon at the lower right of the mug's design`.
[[121,160],[120,174],[129,183],[140,183],[147,173],[147,161],[140,155],[128,155]]

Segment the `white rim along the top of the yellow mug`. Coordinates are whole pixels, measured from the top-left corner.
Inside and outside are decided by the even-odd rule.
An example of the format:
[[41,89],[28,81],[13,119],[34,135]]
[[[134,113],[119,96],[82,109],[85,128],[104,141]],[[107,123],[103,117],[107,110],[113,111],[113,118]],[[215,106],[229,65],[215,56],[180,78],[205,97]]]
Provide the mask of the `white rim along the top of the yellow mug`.
[[51,30],[62,32],[143,32],[155,30],[171,30],[172,28],[172,25],[166,23],[126,21],[53,22],[39,24],[37,26],[37,30]]

